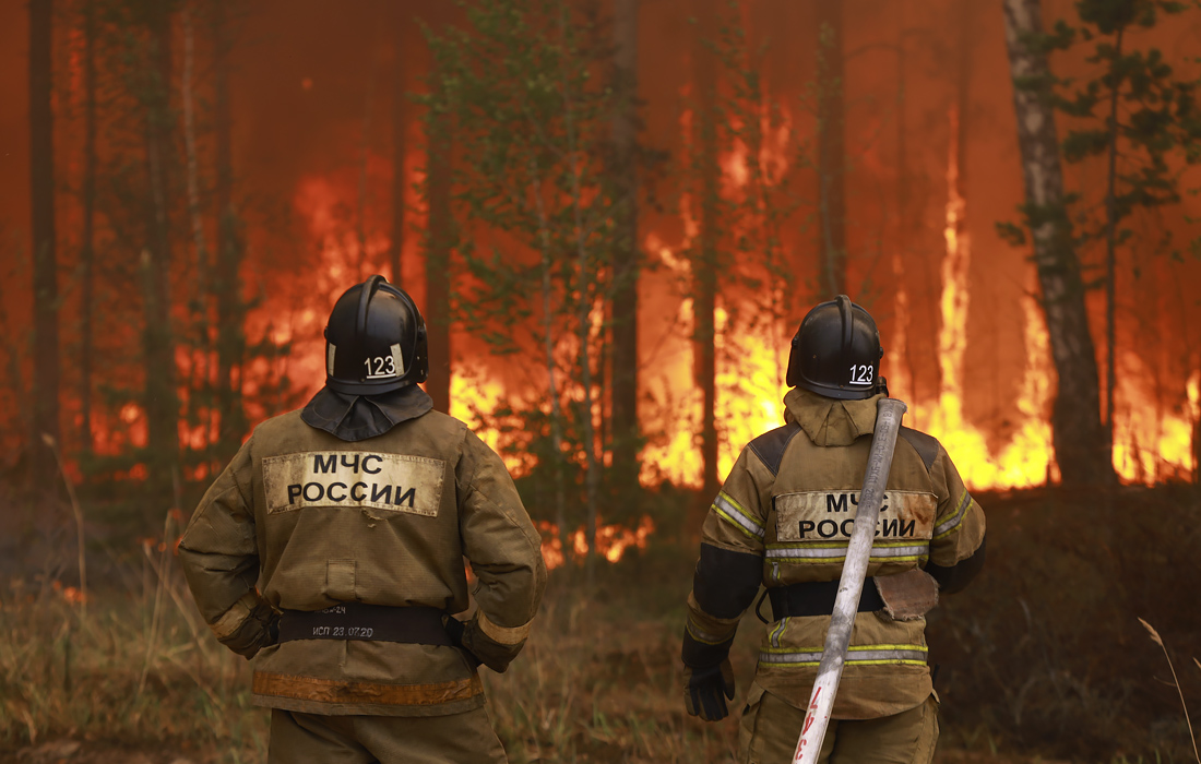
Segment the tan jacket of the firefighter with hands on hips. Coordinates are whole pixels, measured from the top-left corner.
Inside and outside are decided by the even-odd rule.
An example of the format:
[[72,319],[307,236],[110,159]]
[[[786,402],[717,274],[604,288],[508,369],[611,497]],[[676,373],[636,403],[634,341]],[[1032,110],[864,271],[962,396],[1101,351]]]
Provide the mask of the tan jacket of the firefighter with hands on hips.
[[[179,550],[205,621],[247,657],[270,643],[273,610],[362,602],[461,613],[466,557],[478,609],[464,644],[503,670],[546,581],[539,536],[504,464],[435,411],[358,442],[309,426],[299,411],[264,422],[201,500]],[[383,716],[484,703],[458,647],[341,639],[264,646],[253,700]]]

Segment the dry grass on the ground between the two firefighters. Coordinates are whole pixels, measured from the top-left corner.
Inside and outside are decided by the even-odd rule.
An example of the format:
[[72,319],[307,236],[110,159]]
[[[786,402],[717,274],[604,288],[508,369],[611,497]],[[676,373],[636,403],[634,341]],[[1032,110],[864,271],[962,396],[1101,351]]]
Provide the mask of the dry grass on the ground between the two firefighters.
[[[486,678],[490,712],[509,759],[527,762],[717,762],[736,747],[731,718],[685,714],[677,613],[659,617],[552,597],[525,652]],[[742,661],[742,668],[748,667]],[[748,678],[741,678],[741,688]]]

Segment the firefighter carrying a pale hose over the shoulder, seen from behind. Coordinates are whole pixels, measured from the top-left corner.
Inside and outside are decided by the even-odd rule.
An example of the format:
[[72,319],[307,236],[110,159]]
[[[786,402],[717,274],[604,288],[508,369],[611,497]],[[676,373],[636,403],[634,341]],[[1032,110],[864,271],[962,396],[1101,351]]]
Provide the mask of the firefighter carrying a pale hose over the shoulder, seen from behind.
[[[882,356],[876,322],[846,296],[811,310],[793,339],[784,426],[742,450],[705,519],[683,635],[689,714],[725,717],[730,644],[760,584],[775,619],[742,714],[741,762],[789,762],[796,748],[886,395]],[[902,428],[819,760],[931,760],[938,700],[922,614],[939,587],[958,591],[979,572],[984,537],[984,512],[950,456]]]

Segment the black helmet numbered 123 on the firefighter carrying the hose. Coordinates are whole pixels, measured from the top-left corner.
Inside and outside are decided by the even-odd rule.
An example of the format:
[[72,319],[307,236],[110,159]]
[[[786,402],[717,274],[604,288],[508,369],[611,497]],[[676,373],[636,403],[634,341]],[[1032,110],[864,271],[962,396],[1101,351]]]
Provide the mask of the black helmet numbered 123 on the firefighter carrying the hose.
[[788,387],[861,400],[882,390],[880,330],[871,314],[839,294],[811,310],[793,338],[788,356]]

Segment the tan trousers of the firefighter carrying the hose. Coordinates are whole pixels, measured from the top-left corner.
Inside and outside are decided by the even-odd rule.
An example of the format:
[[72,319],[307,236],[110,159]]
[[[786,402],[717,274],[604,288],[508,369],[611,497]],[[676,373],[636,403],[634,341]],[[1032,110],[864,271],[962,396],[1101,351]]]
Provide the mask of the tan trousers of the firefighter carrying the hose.
[[[758,699],[754,696],[759,696]],[[752,686],[751,704],[739,726],[739,762],[775,764],[793,760],[805,711]],[[871,720],[830,720],[818,762],[821,764],[930,764],[938,742],[938,699]]]

